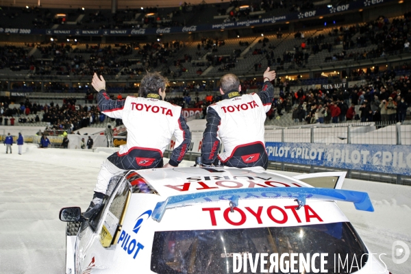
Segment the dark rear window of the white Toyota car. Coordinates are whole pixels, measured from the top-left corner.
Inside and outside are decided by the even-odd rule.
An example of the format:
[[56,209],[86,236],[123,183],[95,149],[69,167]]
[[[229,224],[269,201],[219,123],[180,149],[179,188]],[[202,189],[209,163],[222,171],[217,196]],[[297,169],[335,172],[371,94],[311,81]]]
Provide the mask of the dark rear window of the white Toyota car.
[[[366,247],[350,223],[327,223],[296,227],[261,227],[247,229],[209,229],[190,231],[155,232],[151,252],[151,271],[161,274],[208,273],[228,274],[233,272],[233,253],[328,253],[325,269],[328,273],[352,273],[358,268],[341,267],[334,271],[334,260],[352,262],[357,258],[361,268],[368,260]],[[335,254],[335,257],[334,257]],[[363,254],[365,254],[363,256]],[[339,261],[340,258],[340,261]],[[360,261],[360,259],[362,260]],[[269,269],[270,260],[264,265]],[[297,258],[296,269],[299,269]],[[289,260],[289,259],[288,259]],[[315,260],[320,269],[320,260]],[[260,272],[260,264],[256,271]],[[263,269],[263,270],[264,270]],[[279,271],[277,273],[288,273]],[[306,271],[298,272],[305,274]]]

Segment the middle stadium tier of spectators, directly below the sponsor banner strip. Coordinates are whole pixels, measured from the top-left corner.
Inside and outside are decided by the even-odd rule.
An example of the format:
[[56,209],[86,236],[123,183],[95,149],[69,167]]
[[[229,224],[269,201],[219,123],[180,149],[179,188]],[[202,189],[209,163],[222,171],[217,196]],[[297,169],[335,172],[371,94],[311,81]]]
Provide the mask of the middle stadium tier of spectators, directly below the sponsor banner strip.
[[[384,18],[339,28],[324,28],[282,36],[203,38],[194,42],[132,42],[114,44],[4,43],[0,45],[0,75],[92,75],[133,77],[145,70],[173,78],[220,76],[227,71],[247,75],[271,66],[277,71],[315,69],[343,62],[377,60],[399,53],[410,28],[404,18]],[[303,34],[304,38],[301,38]],[[388,39],[383,39],[388,38]],[[205,73],[206,72],[206,73]]]

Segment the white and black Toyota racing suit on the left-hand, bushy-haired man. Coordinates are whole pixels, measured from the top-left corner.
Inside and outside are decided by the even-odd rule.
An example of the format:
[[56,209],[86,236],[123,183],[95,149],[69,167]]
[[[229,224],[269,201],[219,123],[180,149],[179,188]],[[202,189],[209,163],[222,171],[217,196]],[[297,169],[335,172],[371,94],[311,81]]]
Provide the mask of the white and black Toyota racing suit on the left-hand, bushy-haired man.
[[105,194],[115,173],[131,169],[153,169],[163,166],[163,153],[174,135],[175,149],[169,164],[178,166],[190,145],[191,134],[182,108],[162,101],[160,95],[149,93],[147,98],[129,96],[111,100],[105,90],[97,95],[98,107],[105,115],[123,119],[127,128],[127,144],[101,164],[95,192]]

